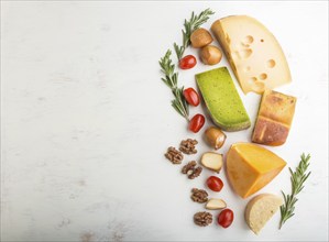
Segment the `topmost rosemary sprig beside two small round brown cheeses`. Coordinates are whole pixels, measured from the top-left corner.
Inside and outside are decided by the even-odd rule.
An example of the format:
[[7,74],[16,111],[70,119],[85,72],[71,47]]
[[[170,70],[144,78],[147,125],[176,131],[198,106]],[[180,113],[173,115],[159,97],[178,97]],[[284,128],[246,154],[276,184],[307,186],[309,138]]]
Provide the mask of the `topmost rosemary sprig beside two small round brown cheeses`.
[[209,15],[213,14],[210,9],[206,9],[200,14],[196,15],[194,12],[191,12],[190,19],[184,20],[184,30],[182,30],[183,33],[183,45],[178,46],[176,43],[174,43],[174,48],[177,55],[178,61],[182,59],[185,50],[190,45],[190,34],[200,28],[204,23],[206,23],[209,19]]

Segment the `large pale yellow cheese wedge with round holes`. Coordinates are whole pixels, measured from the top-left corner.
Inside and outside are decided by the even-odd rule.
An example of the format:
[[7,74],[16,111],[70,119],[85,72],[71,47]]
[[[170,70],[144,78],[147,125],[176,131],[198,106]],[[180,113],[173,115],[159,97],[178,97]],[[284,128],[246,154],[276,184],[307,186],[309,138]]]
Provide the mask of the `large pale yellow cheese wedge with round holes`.
[[285,55],[273,34],[246,15],[217,20],[211,31],[220,42],[244,94],[262,94],[292,80]]

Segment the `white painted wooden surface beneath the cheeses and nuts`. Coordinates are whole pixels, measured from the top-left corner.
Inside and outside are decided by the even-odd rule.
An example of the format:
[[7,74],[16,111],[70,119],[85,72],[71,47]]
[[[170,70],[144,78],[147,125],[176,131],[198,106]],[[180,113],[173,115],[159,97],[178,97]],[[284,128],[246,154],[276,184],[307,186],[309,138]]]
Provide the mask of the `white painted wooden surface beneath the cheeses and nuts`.
[[[279,213],[259,237],[248,229],[249,199],[233,194],[224,173],[217,196],[234,211],[233,224],[196,227],[191,218],[202,206],[189,190],[204,188],[211,173],[188,180],[164,158],[186,138],[200,144],[185,162],[210,150],[202,131],[188,132],[171,108],[157,64],[182,41],[183,20],[206,8],[216,14],[205,28],[226,15],[252,15],[287,56],[293,82],[277,90],[296,96],[297,109],[287,143],[270,150],[293,168],[310,153],[312,174],[281,231]],[[194,75],[210,68],[182,72],[179,84],[195,87]],[[253,124],[260,97],[235,85]],[[250,141],[251,132],[228,133],[220,152]],[[260,193],[289,188],[286,167]],[[1,239],[328,240],[328,2],[1,1]]]

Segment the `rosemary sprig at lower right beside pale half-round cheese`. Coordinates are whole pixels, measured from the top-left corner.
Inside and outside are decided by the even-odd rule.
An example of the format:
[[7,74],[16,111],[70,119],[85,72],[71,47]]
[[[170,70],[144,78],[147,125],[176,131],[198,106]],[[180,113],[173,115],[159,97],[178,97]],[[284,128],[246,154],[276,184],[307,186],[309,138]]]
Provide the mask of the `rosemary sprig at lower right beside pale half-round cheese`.
[[308,154],[307,156],[305,156],[305,154],[303,153],[296,170],[293,172],[292,168],[289,167],[289,172],[292,175],[290,177],[292,194],[285,195],[285,193],[282,191],[284,197],[284,205],[279,207],[281,210],[279,229],[289,218],[292,218],[295,215],[294,213],[295,204],[298,201],[296,196],[303,190],[304,183],[310,175],[310,172],[306,174],[306,170],[309,166],[309,160],[310,160],[310,155]]

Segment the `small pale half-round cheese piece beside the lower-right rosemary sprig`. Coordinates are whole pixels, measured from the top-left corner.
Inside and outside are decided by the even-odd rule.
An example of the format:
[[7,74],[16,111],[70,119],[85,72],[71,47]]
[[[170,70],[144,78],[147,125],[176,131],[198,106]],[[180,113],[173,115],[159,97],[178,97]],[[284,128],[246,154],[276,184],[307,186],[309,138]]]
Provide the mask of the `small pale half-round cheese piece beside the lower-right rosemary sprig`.
[[272,194],[255,196],[245,207],[244,218],[246,224],[255,234],[259,234],[282,205],[283,200],[278,196]]

